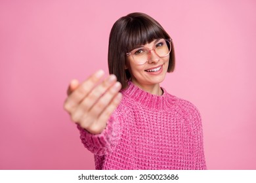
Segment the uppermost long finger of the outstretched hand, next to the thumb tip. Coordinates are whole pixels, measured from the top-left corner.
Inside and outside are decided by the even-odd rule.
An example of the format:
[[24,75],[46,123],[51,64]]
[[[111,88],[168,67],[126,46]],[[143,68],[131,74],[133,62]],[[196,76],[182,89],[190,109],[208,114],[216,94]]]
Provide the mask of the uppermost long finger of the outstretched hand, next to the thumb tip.
[[103,70],[99,70],[93,75],[89,76],[87,80],[85,80],[82,84],[80,84],[74,92],[72,92],[68,99],[66,100],[66,107],[69,110],[75,108],[79,103],[83,100],[85,96],[87,96],[93,88],[95,88],[97,82],[104,75]]

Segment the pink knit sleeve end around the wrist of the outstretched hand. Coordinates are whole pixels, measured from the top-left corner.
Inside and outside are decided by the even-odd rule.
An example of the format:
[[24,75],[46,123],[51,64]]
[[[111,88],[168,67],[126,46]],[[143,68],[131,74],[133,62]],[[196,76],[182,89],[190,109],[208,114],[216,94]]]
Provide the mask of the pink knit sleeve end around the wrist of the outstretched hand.
[[80,131],[80,139],[85,148],[98,156],[110,154],[116,147],[121,136],[121,116],[116,112],[110,116],[106,128],[100,134],[92,134],[83,129],[80,125],[77,128]]

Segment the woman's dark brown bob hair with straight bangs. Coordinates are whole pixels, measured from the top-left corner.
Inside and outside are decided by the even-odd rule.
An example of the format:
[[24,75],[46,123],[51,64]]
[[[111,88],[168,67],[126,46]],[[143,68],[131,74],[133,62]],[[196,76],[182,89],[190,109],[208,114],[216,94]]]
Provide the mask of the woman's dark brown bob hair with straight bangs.
[[[114,74],[122,85],[127,87],[127,80],[131,78],[128,69],[125,69],[126,53],[140,45],[147,44],[155,39],[169,39],[171,37],[154,18],[141,12],[134,12],[119,18],[110,31],[108,44],[108,70]],[[175,52],[171,41],[168,73],[174,71]]]

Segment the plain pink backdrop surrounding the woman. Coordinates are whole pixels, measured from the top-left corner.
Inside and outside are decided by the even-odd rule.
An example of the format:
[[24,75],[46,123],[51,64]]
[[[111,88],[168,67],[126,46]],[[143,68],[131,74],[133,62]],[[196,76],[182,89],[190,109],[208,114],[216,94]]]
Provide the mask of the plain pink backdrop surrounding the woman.
[[94,169],[62,105],[107,69],[117,18],[145,12],[173,38],[162,86],[199,108],[208,169],[256,169],[255,1],[0,2],[0,169]]

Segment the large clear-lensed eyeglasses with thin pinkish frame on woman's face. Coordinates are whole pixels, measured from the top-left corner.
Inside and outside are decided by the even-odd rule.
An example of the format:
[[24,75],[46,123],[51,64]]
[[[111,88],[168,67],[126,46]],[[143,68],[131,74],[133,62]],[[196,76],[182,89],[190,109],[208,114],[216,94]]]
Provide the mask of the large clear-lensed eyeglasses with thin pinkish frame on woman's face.
[[166,56],[169,56],[169,53],[171,52],[171,40],[169,39],[160,39],[158,42],[156,42],[156,45],[154,48],[147,48],[147,47],[141,47],[137,48],[129,53],[126,54],[126,56],[133,56],[133,60],[138,65],[143,65],[150,59],[150,52],[154,51],[155,54],[160,57],[164,58]]

